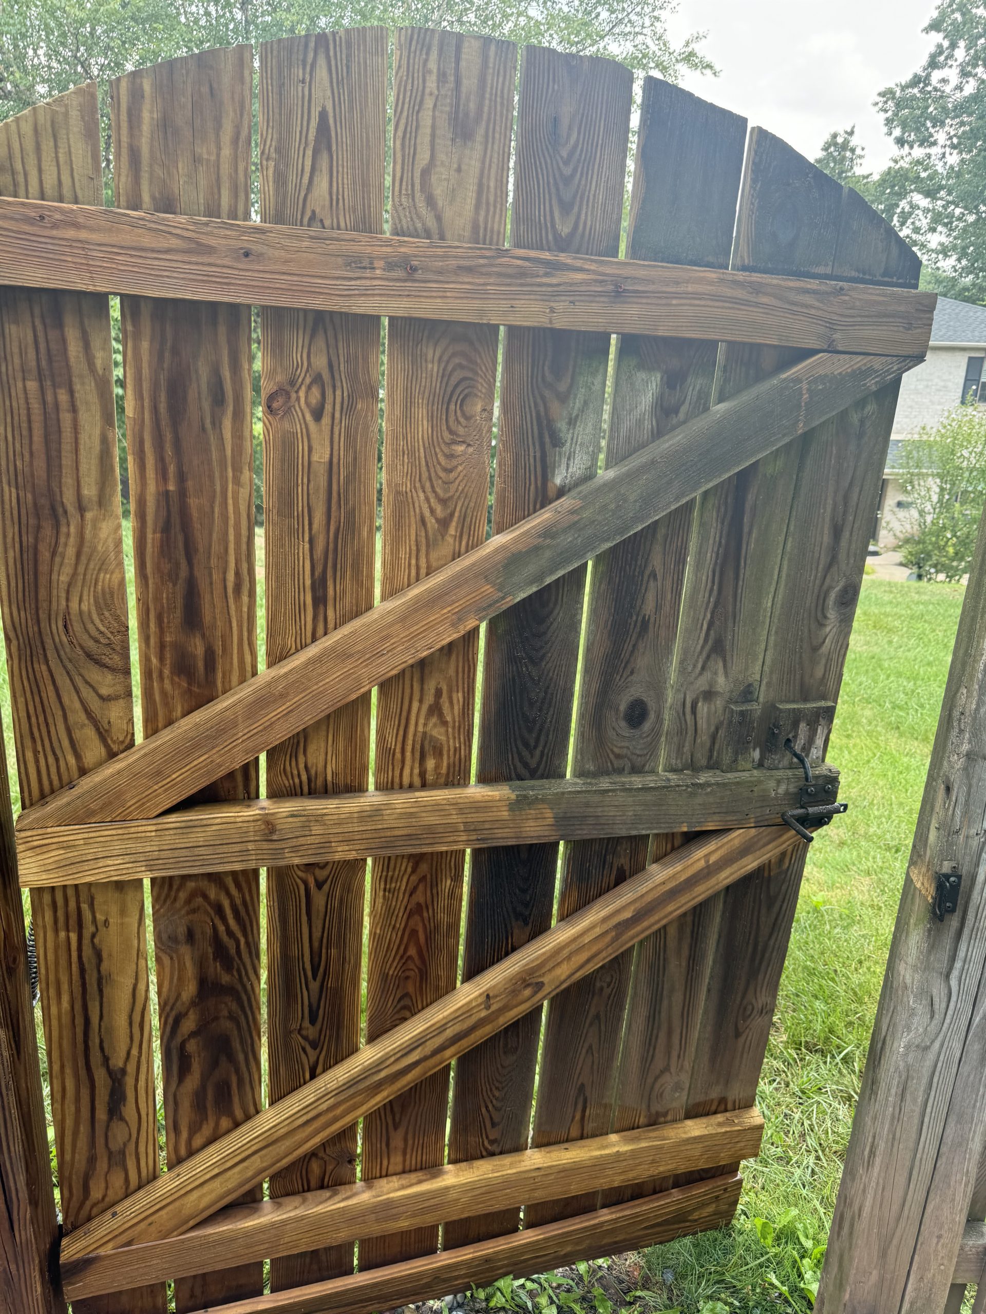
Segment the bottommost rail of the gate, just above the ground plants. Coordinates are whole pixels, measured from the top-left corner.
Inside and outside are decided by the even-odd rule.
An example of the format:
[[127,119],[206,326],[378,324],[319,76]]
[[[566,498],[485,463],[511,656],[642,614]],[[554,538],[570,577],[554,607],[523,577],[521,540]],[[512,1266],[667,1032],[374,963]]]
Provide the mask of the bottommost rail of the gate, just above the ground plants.
[[[736,1175],[713,1177],[439,1255],[234,1301],[222,1305],[222,1314],[372,1314],[400,1302],[461,1290],[471,1282],[492,1282],[504,1273],[525,1277],[586,1255],[619,1255],[720,1227],[736,1210],[740,1187]],[[196,1314],[216,1314],[216,1306]]]

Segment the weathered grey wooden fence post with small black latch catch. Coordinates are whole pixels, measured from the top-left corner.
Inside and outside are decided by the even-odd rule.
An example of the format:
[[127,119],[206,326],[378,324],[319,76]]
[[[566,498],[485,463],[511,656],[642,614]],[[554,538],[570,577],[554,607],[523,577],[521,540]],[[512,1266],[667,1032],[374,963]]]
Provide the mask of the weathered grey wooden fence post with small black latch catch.
[[[818,1314],[937,1314],[986,1142],[986,518],[836,1202]],[[928,903],[958,876],[954,911]],[[954,887],[947,886],[949,897]]]

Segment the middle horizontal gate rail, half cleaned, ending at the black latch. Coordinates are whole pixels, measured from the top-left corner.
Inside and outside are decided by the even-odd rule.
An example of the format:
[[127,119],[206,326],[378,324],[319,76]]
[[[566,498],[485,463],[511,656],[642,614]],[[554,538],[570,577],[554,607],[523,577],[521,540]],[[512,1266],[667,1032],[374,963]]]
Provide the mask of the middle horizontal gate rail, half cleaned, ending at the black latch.
[[[839,773],[814,773],[835,802]],[[780,825],[801,770],[680,771],[208,803],[145,821],[17,836],[24,887],[142,880],[381,854]]]

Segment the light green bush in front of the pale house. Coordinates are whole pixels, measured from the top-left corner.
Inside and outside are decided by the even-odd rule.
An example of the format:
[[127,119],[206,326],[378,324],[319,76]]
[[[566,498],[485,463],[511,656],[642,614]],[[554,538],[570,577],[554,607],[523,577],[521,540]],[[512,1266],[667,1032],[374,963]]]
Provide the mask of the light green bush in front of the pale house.
[[986,501],[986,407],[956,406],[937,427],[902,443],[901,460],[910,503],[901,560],[920,579],[960,581]]

